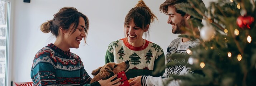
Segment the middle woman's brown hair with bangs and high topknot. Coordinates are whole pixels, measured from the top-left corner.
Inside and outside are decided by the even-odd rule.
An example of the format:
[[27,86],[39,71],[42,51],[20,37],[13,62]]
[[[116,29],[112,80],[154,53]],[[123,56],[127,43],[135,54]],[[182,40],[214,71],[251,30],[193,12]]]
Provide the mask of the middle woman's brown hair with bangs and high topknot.
[[[137,27],[145,30],[145,27],[151,22],[154,22],[156,15],[154,15],[144,1],[139,0],[138,4],[132,8],[128,14],[125,16],[124,25],[129,25],[131,20]],[[148,31],[147,31],[148,32]],[[147,37],[147,34],[145,35]]]

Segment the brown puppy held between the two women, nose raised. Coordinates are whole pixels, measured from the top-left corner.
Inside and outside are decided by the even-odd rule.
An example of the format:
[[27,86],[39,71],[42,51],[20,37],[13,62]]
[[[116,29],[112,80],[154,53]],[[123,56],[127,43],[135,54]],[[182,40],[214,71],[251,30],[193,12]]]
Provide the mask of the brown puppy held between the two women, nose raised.
[[107,63],[103,67],[99,67],[98,69],[93,70],[91,75],[93,75],[94,77],[90,83],[100,81],[101,79],[106,80],[121,71],[127,72],[129,67],[130,65],[128,60],[120,62],[118,64],[114,62]]

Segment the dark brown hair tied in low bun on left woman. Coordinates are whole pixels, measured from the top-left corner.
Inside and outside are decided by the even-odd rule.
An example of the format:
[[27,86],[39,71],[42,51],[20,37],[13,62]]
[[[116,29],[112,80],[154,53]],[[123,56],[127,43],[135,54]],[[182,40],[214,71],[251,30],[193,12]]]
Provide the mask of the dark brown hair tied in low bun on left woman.
[[[74,29],[72,33],[74,33],[78,27],[79,24],[79,18],[82,17],[85,20],[85,38],[87,37],[88,29],[89,29],[89,20],[88,18],[77,11],[76,8],[73,7],[64,7],[60,9],[60,11],[53,15],[54,18],[52,20],[48,20],[48,22],[44,22],[40,30],[43,33],[49,33],[51,32],[55,37],[58,37],[59,29],[60,27],[64,30],[69,29],[72,27]],[[71,24],[74,23],[74,26],[71,26]],[[71,33],[71,34],[72,34]],[[85,41],[86,43],[86,41]]]

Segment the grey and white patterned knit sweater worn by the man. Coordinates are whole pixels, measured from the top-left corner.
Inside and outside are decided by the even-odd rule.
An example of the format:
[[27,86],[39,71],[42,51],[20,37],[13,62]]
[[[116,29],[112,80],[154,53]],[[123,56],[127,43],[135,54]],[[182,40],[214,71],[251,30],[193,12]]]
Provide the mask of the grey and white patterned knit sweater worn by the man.
[[[174,39],[169,47],[167,48],[167,56],[169,57],[172,54],[185,54],[186,49],[191,47],[196,47],[200,44],[200,40],[196,39],[194,41],[189,40],[188,42],[182,42],[182,38]],[[181,57],[182,58],[182,57]],[[172,58],[167,58],[167,63],[176,61]],[[141,84],[142,86],[162,86],[163,83],[166,83],[167,80],[172,79],[171,75],[186,75],[190,71],[189,67],[184,65],[175,65],[165,69],[165,73],[162,77],[152,77],[152,76],[142,76]],[[170,83],[167,83],[168,86],[179,86],[182,81],[172,80]]]

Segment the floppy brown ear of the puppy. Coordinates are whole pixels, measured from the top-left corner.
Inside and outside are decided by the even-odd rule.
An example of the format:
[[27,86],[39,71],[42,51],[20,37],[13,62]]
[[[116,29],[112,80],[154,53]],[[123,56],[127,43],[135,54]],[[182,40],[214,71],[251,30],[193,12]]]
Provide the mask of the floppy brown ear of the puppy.
[[104,71],[100,72],[100,76],[102,77],[103,80],[106,80],[111,76],[114,76],[114,73],[110,67],[106,67]]

